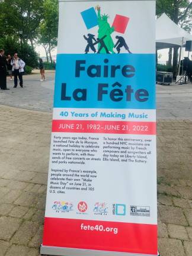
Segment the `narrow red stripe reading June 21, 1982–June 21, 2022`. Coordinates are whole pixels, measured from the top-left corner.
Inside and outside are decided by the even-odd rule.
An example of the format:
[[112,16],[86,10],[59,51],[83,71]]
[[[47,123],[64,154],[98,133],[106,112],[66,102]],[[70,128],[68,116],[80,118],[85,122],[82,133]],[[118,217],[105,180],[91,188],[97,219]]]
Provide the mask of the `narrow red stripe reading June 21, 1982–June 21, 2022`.
[[53,120],[52,132],[155,135],[156,123],[143,121]]

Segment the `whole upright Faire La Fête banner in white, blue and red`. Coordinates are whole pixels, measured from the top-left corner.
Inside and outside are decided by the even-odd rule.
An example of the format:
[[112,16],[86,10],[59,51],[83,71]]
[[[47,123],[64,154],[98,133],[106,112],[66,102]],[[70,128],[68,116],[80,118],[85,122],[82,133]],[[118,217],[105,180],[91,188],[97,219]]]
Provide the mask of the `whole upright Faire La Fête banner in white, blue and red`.
[[158,255],[155,1],[60,1],[41,254]]

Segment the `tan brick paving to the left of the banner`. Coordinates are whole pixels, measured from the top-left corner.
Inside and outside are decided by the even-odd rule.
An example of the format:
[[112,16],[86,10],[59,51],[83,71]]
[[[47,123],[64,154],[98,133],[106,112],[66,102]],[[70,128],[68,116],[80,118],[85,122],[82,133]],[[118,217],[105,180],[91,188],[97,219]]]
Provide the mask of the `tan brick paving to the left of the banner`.
[[0,107],[0,256],[39,255],[52,114]]

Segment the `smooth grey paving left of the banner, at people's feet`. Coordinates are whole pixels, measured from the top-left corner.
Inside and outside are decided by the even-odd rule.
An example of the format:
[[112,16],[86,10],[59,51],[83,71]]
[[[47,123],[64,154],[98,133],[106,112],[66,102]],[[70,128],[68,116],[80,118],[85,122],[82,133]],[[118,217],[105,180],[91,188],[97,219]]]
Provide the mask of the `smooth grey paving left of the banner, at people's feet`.
[[41,110],[52,112],[53,107],[53,89],[43,87],[44,83],[49,82],[54,85],[55,72],[46,72],[46,81],[40,81],[38,70],[33,71],[31,75],[24,75],[24,88],[19,85],[14,87],[14,81],[7,78],[8,91],[0,91],[0,104],[12,107],[28,108],[31,110]]

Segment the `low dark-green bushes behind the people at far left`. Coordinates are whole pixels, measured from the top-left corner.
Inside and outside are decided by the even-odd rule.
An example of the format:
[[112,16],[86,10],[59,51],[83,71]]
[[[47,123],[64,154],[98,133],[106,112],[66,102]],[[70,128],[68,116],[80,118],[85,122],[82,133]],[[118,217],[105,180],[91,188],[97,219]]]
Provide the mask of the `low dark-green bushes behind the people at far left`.
[[0,38],[0,48],[5,49],[5,55],[18,56],[24,60],[26,65],[36,68],[38,66],[38,55],[34,49],[26,42],[23,43],[23,52],[21,51],[20,39],[17,36],[6,36]]

